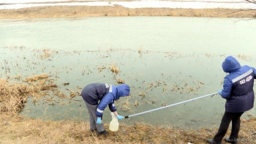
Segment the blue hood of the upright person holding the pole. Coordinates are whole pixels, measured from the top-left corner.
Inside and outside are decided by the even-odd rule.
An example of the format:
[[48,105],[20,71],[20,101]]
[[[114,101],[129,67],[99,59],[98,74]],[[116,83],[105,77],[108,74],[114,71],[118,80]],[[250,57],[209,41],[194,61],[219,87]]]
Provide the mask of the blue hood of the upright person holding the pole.
[[241,65],[233,56],[227,56],[222,63],[222,69],[224,72],[233,72],[236,69],[240,69]]

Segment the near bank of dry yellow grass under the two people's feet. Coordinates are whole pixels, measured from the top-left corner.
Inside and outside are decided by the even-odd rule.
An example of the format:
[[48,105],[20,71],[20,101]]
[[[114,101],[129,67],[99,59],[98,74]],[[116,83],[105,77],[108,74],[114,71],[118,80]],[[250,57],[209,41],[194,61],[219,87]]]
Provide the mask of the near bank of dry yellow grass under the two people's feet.
[[[43,121],[18,114],[0,114],[0,143],[206,143],[217,128],[178,129],[172,126],[122,124],[118,132],[97,136],[85,121]],[[256,118],[241,121],[239,140],[256,143]],[[108,129],[108,124],[105,124]],[[226,136],[230,134],[230,129]]]

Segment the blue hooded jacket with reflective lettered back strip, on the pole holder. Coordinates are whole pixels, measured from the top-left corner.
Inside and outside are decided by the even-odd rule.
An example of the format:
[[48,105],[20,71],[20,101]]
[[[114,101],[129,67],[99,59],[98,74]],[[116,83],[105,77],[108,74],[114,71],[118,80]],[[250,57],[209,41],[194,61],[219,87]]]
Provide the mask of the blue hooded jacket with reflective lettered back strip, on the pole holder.
[[227,99],[225,111],[241,113],[252,109],[255,93],[253,91],[256,70],[253,67],[241,67],[236,58],[227,56],[222,63],[224,72],[229,72],[224,78],[221,96]]

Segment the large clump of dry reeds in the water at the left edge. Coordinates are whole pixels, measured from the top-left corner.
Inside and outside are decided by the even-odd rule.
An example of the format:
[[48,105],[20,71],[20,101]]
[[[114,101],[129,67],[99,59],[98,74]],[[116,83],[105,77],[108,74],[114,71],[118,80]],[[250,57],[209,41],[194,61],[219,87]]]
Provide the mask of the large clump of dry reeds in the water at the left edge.
[[53,91],[57,86],[48,75],[36,75],[26,77],[26,83],[10,83],[7,80],[0,80],[0,112],[16,113],[23,109],[29,96],[33,101]]

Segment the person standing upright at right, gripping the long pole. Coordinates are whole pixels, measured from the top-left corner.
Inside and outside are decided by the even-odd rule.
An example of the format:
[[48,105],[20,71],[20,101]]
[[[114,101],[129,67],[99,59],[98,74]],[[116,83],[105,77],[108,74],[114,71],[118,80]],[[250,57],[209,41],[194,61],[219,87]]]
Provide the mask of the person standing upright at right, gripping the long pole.
[[226,99],[225,113],[219,126],[219,131],[213,139],[208,139],[207,143],[222,143],[230,121],[232,129],[230,137],[225,138],[227,143],[238,143],[238,132],[240,129],[240,117],[251,110],[255,100],[253,91],[256,70],[249,66],[240,66],[236,58],[227,56],[222,63],[224,72],[229,72],[224,78],[223,89],[218,91],[222,98]]

